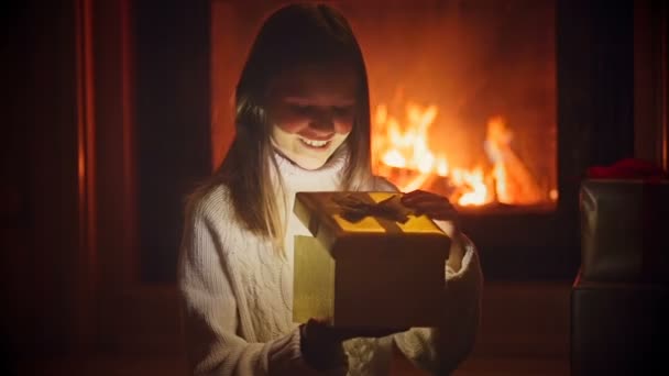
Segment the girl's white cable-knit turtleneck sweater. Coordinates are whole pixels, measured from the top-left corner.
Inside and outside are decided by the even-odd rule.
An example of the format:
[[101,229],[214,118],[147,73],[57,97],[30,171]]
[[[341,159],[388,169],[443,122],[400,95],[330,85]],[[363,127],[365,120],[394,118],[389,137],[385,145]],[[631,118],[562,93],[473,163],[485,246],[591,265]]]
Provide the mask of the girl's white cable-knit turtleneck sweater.
[[[343,158],[305,170],[278,157],[287,204],[297,191],[339,190]],[[375,178],[364,190],[396,190]],[[308,235],[290,214],[281,257],[268,241],[237,221],[226,187],[190,207],[178,264],[186,346],[196,375],[320,375],[304,362],[299,331],[292,322],[293,239]],[[386,375],[393,341],[416,365],[447,374],[469,354],[479,322],[482,284],[478,256],[467,241],[462,268],[446,268],[443,324],[415,328],[382,339],[344,343],[349,375]],[[397,302],[401,305],[402,302]],[[329,374],[346,374],[336,369]]]

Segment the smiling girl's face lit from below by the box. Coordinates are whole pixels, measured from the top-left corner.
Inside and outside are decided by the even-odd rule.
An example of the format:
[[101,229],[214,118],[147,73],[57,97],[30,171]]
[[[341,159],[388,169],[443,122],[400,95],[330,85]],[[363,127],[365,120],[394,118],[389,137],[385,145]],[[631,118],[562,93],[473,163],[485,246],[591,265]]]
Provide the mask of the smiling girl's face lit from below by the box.
[[270,86],[272,144],[305,169],[325,165],[353,128],[355,74],[330,68],[292,69]]

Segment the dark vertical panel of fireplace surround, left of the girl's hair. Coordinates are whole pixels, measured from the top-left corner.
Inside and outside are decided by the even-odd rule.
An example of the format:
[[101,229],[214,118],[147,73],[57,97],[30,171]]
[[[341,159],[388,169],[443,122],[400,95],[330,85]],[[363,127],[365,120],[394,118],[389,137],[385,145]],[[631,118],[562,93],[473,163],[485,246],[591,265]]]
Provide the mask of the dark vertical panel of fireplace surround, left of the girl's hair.
[[183,203],[211,172],[209,1],[136,1],[142,279],[174,283]]

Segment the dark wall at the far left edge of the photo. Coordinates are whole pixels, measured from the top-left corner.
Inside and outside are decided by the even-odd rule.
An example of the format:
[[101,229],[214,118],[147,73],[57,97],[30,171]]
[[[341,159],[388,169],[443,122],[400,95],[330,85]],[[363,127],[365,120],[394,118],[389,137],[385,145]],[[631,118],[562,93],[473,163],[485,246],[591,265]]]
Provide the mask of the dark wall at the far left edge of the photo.
[[0,334],[12,358],[76,336],[75,12],[21,2],[3,13]]

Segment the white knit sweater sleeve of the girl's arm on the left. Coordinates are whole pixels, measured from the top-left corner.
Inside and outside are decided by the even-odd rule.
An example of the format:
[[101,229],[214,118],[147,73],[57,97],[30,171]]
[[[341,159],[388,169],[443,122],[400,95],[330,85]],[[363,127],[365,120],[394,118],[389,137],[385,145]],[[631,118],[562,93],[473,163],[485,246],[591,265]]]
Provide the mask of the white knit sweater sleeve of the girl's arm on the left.
[[[308,367],[299,330],[266,343],[239,335],[238,300],[227,275],[226,252],[206,210],[186,215],[178,265],[186,353],[194,375],[323,375]],[[329,374],[346,374],[336,369]]]

